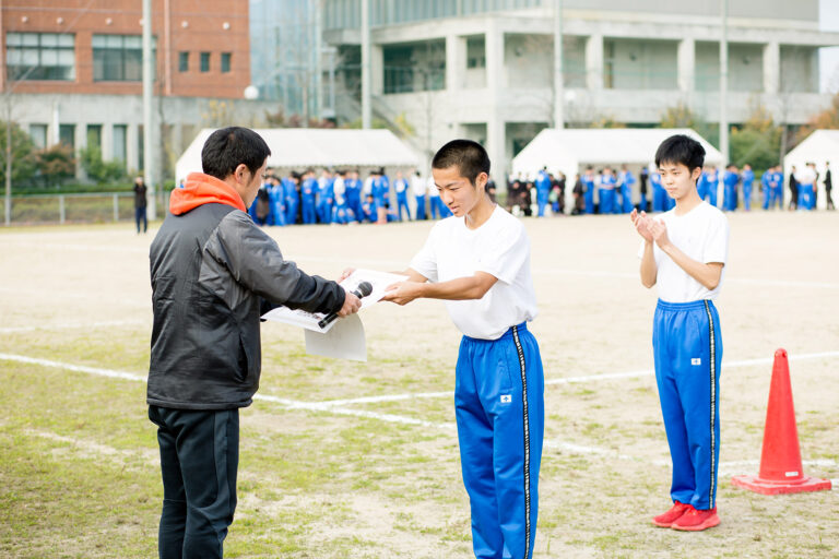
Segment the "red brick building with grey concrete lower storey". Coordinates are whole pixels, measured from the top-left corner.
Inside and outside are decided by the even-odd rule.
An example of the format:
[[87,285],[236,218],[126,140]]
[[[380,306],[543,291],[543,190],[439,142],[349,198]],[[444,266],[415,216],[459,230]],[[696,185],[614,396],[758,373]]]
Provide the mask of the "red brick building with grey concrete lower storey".
[[[0,2],[4,108],[39,146],[91,143],[127,169],[143,165],[142,2]],[[154,112],[161,155],[179,155],[202,126],[248,123],[248,2],[153,0]]]

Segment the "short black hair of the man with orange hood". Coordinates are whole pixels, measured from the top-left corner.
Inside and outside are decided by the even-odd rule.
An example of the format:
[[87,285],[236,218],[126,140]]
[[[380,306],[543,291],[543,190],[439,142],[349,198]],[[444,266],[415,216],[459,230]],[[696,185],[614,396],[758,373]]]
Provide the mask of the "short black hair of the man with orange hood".
[[248,128],[222,128],[210,134],[201,150],[201,167],[206,175],[226,179],[241,164],[251,174],[259,170],[271,150],[262,136]]

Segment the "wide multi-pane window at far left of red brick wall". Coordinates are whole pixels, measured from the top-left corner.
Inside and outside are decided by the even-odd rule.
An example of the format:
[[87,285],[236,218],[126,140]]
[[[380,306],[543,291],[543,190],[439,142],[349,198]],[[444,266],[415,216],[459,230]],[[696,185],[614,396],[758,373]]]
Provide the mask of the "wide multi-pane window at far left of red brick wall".
[[75,80],[75,35],[7,33],[10,80]]

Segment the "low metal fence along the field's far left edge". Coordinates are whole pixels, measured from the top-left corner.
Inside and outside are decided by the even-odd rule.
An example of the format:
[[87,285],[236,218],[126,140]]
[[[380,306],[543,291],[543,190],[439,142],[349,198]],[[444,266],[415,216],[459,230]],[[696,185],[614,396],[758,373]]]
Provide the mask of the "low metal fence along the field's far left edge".
[[[168,191],[156,192],[157,215],[166,215]],[[133,192],[29,194],[12,197],[12,225],[132,222]]]

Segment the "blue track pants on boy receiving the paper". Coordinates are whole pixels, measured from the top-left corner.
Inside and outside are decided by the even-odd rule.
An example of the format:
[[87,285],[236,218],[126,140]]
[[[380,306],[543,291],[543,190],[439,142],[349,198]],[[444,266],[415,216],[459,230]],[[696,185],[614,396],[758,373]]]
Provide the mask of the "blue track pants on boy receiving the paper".
[[525,324],[498,340],[463,336],[454,407],[477,558],[533,555],[544,386],[539,345]]

